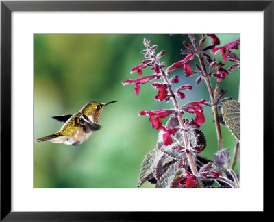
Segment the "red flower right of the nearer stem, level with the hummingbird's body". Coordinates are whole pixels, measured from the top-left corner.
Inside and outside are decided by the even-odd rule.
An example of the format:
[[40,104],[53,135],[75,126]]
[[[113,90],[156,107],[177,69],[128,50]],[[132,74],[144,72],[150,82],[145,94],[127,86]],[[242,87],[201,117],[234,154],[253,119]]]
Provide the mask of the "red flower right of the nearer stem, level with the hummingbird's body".
[[206,121],[203,115],[203,107],[200,104],[208,105],[208,102],[206,99],[201,99],[201,101],[195,101],[182,106],[182,110],[195,114],[194,122],[199,125]]

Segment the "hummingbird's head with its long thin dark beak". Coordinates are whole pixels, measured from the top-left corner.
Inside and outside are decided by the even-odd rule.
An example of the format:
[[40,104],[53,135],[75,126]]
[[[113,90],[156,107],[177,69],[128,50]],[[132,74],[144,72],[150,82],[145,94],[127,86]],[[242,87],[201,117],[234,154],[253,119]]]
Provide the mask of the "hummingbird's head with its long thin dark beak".
[[105,106],[107,106],[108,104],[115,102],[117,101],[111,101],[109,103],[97,103],[95,101],[92,101],[83,106],[80,112],[83,112],[86,116],[88,116],[88,118],[92,122],[97,123],[99,121],[103,108],[105,108]]

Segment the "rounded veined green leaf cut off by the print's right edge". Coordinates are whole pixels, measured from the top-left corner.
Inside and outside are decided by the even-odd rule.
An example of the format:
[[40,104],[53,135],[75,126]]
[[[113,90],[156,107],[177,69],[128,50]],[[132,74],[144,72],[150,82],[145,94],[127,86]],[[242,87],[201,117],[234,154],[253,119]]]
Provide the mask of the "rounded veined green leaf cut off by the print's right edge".
[[240,141],[240,103],[235,100],[223,103],[221,112],[225,125],[227,125],[236,139]]

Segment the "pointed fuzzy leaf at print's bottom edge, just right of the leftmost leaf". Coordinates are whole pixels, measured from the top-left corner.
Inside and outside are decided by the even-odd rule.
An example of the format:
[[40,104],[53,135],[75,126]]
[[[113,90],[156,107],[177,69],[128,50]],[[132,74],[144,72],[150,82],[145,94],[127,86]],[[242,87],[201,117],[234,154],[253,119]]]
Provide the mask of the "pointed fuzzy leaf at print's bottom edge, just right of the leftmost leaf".
[[170,188],[174,180],[175,173],[178,170],[178,167],[179,161],[175,162],[175,164],[172,164],[171,167],[167,169],[166,173],[162,175],[160,180],[158,180],[158,183],[155,184],[155,188]]

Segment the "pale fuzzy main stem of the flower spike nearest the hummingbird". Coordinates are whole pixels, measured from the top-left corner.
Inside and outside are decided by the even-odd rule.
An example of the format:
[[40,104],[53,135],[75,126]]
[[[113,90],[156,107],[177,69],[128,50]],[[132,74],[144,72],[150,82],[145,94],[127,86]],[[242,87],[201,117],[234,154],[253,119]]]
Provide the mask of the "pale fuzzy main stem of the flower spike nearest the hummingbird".
[[[177,99],[176,99],[176,97],[175,97],[175,95],[173,93],[173,90],[171,88],[171,85],[169,84],[169,79],[166,77],[166,73],[164,72],[164,70],[162,68],[160,69],[160,71],[162,73],[162,76],[164,77],[164,82],[168,86],[169,93],[171,95],[171,98],[172,98],[173,104],[175,106],[175,109],[179,111],[179,105],[177,103]],[[184,125],[184,120],[183,120],[182,114],[178,114],[178,119],[179,119],[179,124],[184,129],[185,125]],[[184,134],[184,143],[185,143],[186,148],[187,148],[187,147],[189,147],[188,135],[186,134],[186,132],[184,130],[183,130],[183,134]],[[189,153],[187,154],[187,156],[188,156],[188,162],[190,164],[190,169],[191,169],[193,175],[195,175],[197,177],[198,172],[197,172],[197,169],[196,169],[195,162],[194,162],[194,159],[193,159],[191,151],[189,151]],[[198,186],[198,188],[203,188],[203,184],[201,183],[201,181],[199,179],[197,179],[197,186]]]

